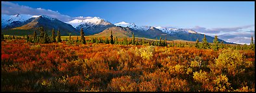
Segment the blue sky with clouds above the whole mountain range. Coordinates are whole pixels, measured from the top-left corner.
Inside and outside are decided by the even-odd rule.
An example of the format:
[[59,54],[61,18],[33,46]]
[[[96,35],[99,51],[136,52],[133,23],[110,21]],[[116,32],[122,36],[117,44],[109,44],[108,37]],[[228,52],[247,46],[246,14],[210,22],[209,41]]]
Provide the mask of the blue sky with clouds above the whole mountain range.
[[255,39],[254,1],[2,1],[1,14],[44,14],[65,22],[101,17],[113,24],[188,28],[233,43]]

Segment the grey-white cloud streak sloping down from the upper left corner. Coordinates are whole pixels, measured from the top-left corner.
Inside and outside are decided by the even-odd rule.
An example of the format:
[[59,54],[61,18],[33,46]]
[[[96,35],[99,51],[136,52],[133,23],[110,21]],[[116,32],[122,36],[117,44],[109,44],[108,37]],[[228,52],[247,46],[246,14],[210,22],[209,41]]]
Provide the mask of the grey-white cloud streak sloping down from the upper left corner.
[[23,6],[14,4],[7,1],[1,1],[1,14],[15,15],[15,14],[29,14],[29,15],[45,15],[53,18],[57,18],[60,21],[71,21],[73,17],[62,15],[59,12],[53,10],[46,10],[44,8],[31,8],[29,6]]

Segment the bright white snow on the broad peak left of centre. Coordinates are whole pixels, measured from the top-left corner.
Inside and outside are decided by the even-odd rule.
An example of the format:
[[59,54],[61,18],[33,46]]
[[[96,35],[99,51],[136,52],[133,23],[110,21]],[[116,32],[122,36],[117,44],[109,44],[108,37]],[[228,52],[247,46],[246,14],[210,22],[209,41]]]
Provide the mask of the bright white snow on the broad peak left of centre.
[[86,17],[86,19],[74,19],[66,22],[77,28],[79,25],[94,26],[94,25],[110,25],[111,23],[101,19],[100,17]]

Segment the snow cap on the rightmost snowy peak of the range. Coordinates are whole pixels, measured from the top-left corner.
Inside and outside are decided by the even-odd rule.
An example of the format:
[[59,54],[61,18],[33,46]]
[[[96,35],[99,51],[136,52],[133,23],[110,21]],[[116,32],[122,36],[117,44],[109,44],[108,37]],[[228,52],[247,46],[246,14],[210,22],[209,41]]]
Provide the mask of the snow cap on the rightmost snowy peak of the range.
[[183,28],[166,28],[166,27],[162,27],[162,26],[157,26],[155,28],[157,28],[159,30],[162,30],[162,32],[165,32],[167,34],[176,34],[176,33],[197,34],[198,33],[194,30],[186,30],[186,29],[183,29]]

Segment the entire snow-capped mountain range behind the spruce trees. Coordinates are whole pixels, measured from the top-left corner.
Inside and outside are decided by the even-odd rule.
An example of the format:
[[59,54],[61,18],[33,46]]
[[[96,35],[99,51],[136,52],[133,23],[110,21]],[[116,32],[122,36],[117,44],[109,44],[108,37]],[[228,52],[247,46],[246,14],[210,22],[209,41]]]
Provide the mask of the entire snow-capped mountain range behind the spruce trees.
[[[135,23],[120,23],[112,24],[100,17],[86,17],[85,19],[73,19],[72,21],[62,22],[58,19],[48,16],[31,16],[26,14],[16,14],[8,16],[1,14],[1,33],[27,35],[34,31],[39,34],[38,28],[44,27],[47,34],[51,34],[51,30],[60,30],[61,36],[80,35],[80,30],[83,28],[85,36],[110,36],[110,31],[115,37],[146,37],[149,39],[160,38],[167,40],[183,39],[186,41],[196,41],[203,39],[204,34],[199,34],[194,30],[183,28],[166,28],[163,26],[138,26]],[[214,37],[206,36],[207,41],[212,43]],[[223,41],[218,39],[218,41]],[[224,43],[227,43],[224,41]]]

